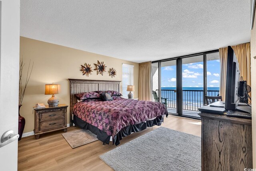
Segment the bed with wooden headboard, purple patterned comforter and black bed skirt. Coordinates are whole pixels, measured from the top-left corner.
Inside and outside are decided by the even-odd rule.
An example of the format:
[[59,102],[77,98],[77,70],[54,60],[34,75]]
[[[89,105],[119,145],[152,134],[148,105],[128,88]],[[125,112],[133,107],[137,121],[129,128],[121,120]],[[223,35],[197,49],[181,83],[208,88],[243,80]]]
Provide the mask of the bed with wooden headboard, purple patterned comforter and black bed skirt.
[[166,106],[160,102],[138,101],[114,96],[112,101],[98,99],[78,102],[81,92],[120,91],[120,81],[70,80],[70,126],[73,123],[97,135],[103,143],[118,145],[122,137],[154,125],[160,126]]

